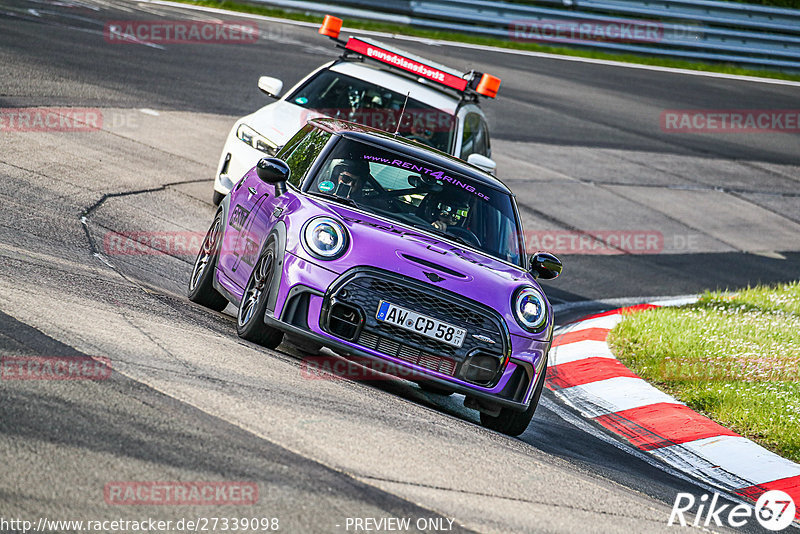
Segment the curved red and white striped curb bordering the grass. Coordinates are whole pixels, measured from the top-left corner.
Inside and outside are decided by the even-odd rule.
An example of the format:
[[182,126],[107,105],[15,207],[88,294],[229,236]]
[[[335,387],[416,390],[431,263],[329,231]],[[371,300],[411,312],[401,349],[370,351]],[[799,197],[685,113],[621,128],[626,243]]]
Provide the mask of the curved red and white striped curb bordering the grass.
[[683,473],[754,501],[781,490],[800,504],[799,464],[694,412],[612,354],[606,338],[623,314],[657,306],[619,308],[557,328],[547,387],[584,417]]

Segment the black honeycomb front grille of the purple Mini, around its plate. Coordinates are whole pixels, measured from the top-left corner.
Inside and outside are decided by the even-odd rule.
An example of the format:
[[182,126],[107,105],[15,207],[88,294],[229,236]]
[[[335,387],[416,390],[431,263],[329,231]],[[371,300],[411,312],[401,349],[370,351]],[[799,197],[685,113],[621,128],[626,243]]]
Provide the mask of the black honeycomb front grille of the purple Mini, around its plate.
[[[454,347],[379,321],[376,315],[382,300],[464,328],[467,335],[463,345]],[[333,335],[337,333],[330,328],[331,310],[343,304],[361,312],[363,323],[354,337],[365,348],[481,385],[494,382],[503,371],[509,350],[505,323],[497,312],[477,302],[412,278],[362,268],[343,275],[326,295],[322,328]],[[495,343],[480,341],[475,335]],[[489,382],[485,376],[473,379],[469,365],[464,365],[476,352],[497,359],[496,376]]]

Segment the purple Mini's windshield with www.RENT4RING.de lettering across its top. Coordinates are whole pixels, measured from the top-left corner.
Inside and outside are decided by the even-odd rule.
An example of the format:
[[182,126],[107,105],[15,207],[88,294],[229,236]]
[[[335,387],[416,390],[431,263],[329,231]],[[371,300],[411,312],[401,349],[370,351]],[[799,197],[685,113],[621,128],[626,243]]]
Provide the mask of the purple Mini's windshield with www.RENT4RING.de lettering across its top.
[[340,138],[305,191],[521,265],[511,195],[451,168]]

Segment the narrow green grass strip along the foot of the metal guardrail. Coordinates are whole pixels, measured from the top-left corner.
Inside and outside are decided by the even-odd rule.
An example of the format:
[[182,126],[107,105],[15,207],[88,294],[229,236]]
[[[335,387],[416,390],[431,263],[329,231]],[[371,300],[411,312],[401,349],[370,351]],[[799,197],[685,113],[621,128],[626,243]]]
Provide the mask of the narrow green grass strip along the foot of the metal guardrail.
[[[321,15],[311,15],[306,12],[286,11],[277,8],[264,7],[262,5],[253,5],[242,2],[235,2],[231,0],[219,0],[219,1],[218,0],[174,0],[174,1],[182,2],[184,4],[194,4],[199,6],[227,9],[230,11],[265,15],[269,17],[278,17],[290,20],[301,20],[305,22],[322,23]],[[387,33],[396,33],[401,35],[420,37],[424,39],[439,39],[443,41],[455,41],[461,43],[496,46],[500,48],[511,48],[515,50],[530,50],[533,52],[547,52],[551,54],[561,54],[566,56],[587,57],[587,58],[604,59],[611,61],[623,61],[627,63],[638,63],[642,65],[654,65],[660,67],[672,67],[672,68],[699,70],[706,72],[721,72],[725,74],[735,74],[740,76],[757,76],[761,78],[777,78],[782,80],[800,81],[800,74],[797,73],[788,73],[788,72],[781,72],[781,71],[767,70],[767,69],[764,70],[748,69],[730,63],[703,63],[703,62],[683,61],[679,59],[670,59],[670,58],[636,55],[636,54],[612,54],[608,52],[599,52],[589,49],[542,46],[536,43],[506,41],[503,39],[477,36],[470,33],[455,33],[455,32],[445,32],[437,30],[426,30],[403,24],[390,24],[384,22],[357,20],[351,18],[345,20],[344,26],[345,28],[352,28],[352,29],[382,31]],[[320,39],[323,39],[323,37],[320,36]]]

